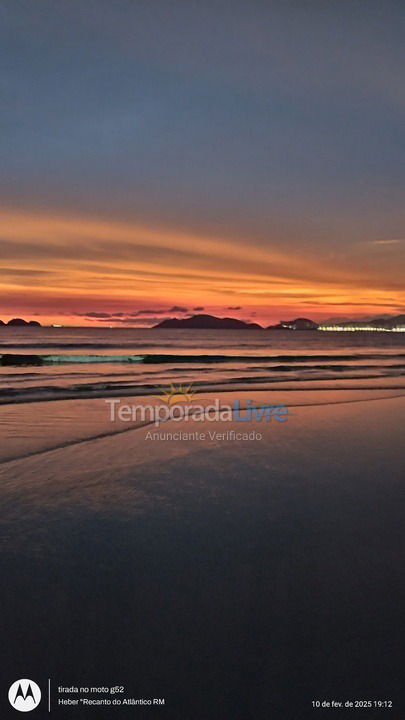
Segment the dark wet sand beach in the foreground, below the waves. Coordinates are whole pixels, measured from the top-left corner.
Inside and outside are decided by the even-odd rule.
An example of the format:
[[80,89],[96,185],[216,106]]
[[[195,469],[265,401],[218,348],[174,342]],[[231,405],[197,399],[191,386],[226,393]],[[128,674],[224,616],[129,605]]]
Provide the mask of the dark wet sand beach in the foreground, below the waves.
[[[2,463],[10,681],[29,648],[52,703],[58,685],[117,684],[165,698],[139,710],[153,718],[310,719],[326,716],[312,701],[365,699],[394,708],[368,718],[402,717],[404,393],[270,396],[255,397],[291,414],[249,427],[260,440],[211,439],[237,422],[184,441],[97,426]],[[104,400],[81,402],[100,423]]]

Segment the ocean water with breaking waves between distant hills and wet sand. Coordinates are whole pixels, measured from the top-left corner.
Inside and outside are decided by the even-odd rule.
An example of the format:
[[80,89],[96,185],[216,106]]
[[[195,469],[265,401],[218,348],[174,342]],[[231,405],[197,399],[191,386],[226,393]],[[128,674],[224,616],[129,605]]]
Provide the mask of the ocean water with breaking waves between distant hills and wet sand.
[[403,387],[404,374],[403,333],[0,329],[1,403],[148,395],[171,383]]

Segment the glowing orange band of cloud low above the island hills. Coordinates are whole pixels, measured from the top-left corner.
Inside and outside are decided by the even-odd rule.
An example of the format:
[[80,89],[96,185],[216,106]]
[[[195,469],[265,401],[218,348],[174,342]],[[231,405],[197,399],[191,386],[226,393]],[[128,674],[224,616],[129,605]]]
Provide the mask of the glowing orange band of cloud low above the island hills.
[[6,210],[0,234],[5,321],[34,314],[46,324],[102,326],[108,318],[97,313],[116,313],[111,324],[120,325],[138,313],[132,324],[150,326],[161,315],[206,312],[271,324],[303,314],[396,314],[405,306],[399,277],[390,275],[387,287],[380,272],[331,268],[320,254],[292,258],[250,239]]

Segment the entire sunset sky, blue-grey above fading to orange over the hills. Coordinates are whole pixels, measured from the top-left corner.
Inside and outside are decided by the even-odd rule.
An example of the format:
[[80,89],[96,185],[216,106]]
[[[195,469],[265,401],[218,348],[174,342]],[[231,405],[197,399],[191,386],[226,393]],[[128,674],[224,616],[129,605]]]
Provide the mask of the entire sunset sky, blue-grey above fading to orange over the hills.
[[0,318],[405,311],[405,6],[3,0]]

